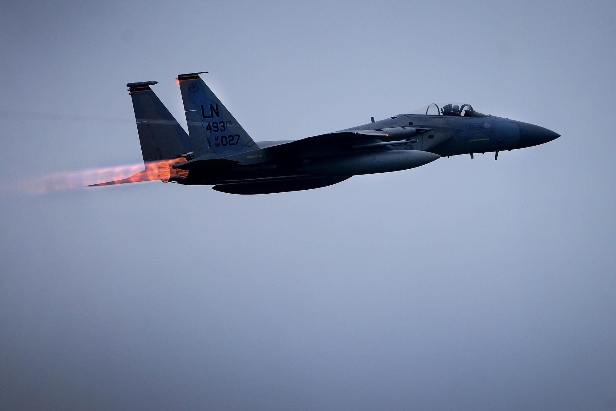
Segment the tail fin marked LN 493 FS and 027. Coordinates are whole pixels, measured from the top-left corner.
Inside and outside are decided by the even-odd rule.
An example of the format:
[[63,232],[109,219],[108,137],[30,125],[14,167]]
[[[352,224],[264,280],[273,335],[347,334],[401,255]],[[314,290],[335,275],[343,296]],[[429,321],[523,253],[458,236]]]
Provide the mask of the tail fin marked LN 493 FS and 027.
[[199,74],[177,76],[195,158],[221,158],[259,148]]

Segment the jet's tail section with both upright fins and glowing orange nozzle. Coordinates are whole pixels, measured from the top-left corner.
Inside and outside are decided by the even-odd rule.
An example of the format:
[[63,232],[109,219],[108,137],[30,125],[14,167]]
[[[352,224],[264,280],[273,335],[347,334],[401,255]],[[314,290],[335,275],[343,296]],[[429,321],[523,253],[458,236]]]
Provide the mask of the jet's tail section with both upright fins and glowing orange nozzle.
[[219,159],[259,148],[199,74],[177,76],[188,134],[150,89],[157,81],[126,84],[135,111],[145,170],[123,180],[93,186],[152,180],[166,183],[188,176],[187,170],[174,168],[182,162],[200,157]]

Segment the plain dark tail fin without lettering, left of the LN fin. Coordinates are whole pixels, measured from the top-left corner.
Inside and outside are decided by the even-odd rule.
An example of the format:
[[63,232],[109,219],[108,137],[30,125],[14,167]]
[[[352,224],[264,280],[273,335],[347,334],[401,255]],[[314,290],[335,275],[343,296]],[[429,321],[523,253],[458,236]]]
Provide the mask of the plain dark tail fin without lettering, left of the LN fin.
[[135,110],[144,162],[172,159],[192,151],[190,138],[150,86],[157,81],[126,84]]

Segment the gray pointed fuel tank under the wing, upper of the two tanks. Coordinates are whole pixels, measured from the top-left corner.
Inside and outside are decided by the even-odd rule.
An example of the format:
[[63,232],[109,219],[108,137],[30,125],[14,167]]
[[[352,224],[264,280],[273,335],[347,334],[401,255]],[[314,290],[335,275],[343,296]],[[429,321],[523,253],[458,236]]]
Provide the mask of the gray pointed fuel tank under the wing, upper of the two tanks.
[[419,150],[388,150],[306,159],[298,171],[312,175],[360,175],[386,173],[423,166],[440,158],[439,154]]

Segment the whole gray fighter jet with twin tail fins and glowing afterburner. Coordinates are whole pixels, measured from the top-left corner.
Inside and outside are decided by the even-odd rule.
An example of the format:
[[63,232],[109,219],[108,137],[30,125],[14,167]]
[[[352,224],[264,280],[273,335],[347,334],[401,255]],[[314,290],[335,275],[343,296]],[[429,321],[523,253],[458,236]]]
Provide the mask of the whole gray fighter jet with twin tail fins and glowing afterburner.
[[354,175],[412,169],[441,157],[536,146],[561,137],[491,116],[469,103],[432,103],[408,113],[301,140],[254,142],[199,74],[179,74],[188,134],[156,97],[156,81],[126,84],[145,170],[95,186],[161,180],[213,185],[232,194],[330,186]]

